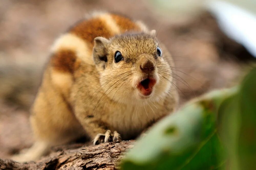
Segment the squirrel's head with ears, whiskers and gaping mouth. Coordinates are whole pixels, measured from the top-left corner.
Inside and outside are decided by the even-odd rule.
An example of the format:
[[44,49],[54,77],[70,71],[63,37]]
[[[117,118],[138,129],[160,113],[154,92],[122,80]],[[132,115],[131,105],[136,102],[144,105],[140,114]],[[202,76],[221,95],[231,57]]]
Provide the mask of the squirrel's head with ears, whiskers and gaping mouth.
[[155,30],[94,39],[93,60],[101,88],[121,103],[156,101],[172,85],[169,53],[159,45]]

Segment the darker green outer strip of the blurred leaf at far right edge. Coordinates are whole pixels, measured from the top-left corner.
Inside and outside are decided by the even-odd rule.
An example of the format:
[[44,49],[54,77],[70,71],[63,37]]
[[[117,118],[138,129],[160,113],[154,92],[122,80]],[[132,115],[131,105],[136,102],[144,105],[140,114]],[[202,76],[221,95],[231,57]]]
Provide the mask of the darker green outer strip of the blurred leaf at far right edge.
[[256,68],[241,84],[239,94],[240,129],[238,131],[238,158],[240,169],[256,169]]

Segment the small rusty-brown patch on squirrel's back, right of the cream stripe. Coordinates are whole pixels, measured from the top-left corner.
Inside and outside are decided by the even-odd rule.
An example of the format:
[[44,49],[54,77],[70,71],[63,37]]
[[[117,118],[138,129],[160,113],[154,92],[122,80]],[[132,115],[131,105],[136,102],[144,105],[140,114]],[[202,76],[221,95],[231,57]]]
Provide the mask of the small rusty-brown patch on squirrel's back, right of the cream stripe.
[[111,15],[116,24],[120,27],[122,32],[125,31],[141,31],[140,27],[136,25],[131,19],[123,17],[120,15],[112,14]]

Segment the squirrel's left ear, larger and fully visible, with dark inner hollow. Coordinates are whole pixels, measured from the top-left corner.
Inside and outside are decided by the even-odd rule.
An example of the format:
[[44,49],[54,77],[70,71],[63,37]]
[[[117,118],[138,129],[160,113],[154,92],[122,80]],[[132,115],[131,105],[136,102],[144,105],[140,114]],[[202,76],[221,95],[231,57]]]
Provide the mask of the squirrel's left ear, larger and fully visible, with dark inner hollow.
[[105,68],[105,63],[108,61],[107,58],[107,46],[109,40],[104,37],[94,38],[94,47],[92,50],[93,61],[96,66]]

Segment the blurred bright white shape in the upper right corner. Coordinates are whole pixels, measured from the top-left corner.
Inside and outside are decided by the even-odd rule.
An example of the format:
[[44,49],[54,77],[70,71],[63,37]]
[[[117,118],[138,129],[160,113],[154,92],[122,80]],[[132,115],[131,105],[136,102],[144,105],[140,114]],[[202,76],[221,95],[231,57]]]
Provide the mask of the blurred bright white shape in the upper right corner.
[[215,15],[223,32],[238,43],[241,43],[256,57],[255,15],[224,1],[207,1],[206,7]]

